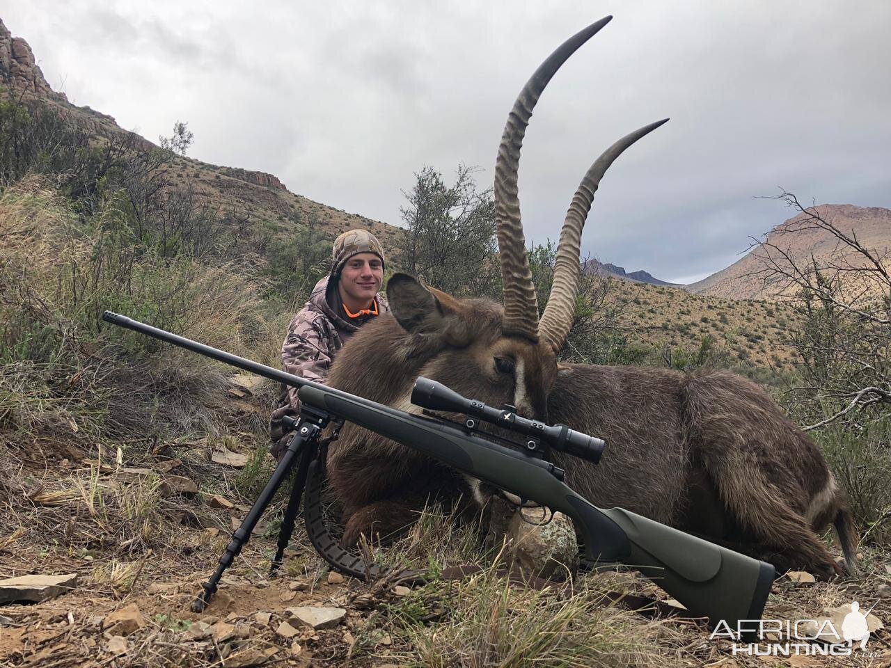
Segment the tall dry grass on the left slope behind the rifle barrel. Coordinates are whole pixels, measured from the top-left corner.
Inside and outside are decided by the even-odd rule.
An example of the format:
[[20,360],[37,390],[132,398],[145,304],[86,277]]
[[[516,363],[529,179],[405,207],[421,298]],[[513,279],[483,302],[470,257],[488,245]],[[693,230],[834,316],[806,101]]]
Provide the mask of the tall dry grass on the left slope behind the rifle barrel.
[[[44,183],[0,194],[0,439],[92,448],[222,435],[231,368],[103,326],[117,310],[236,354],[273,362],[285,314],[269,311],[250,265],[154,257],[127,237],[119,202],[89,225]],[[268,400],[273,400],[270,391]],[[260,428],[257,412],[249,432]]]

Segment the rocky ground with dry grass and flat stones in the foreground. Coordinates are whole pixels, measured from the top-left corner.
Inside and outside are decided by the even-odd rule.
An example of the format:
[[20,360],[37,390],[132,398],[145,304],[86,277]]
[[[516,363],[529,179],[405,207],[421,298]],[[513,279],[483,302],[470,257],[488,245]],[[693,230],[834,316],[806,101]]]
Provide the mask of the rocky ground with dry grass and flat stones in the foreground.
[[[251,410],[242,401],[249,387],[234,392]],[[283,493],[211,605],[192,613],[200,583],[271,471],[254,438],[233,431],[194,442],[146,439],[114,452],[84,442],[0,442],[0,668],[891,665],[891,634],[880,627],[891,624],[891,554],[868,543],[862,577],[784,575],[764,615],[820,618],[857,600],[873,608],[868,651],[734,656],[731,641],[710,639],[701,623],[606,605],[604,593],[616,591],[674,604],[634,574],[589,574],[544,591],[511,584],[498,572],[497,550],[435,510],[374,553],[426,573],[423,586],[331,573],[302,525],[270,577]],[[481,570],[441,577],[444,566],[468,563]]]

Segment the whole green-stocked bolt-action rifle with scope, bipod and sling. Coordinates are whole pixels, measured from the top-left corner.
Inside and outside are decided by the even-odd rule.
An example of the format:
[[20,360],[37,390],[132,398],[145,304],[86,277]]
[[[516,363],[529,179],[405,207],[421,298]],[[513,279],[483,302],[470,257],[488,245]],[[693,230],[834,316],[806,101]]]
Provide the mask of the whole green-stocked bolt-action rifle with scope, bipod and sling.
[[[680,601],[693,615],[707,617],[712,625],[723,620],[735,628],[738,620],[761,617],[773,581],[773,566],[625,509],[597,508],[563,482],[563,470],[541,456],[551,448],[596,463],[605,445],[599,438],[563,425],[549,426],[527,420],[511,411],[511,407],[486,406],[423,377],[415,383],[412,403],[427,411],[425,416],[413,415],[123,315],[106,311],[102,319],[290,387],[298,387],[300,413],[297,420],[289,419],[286,425],[293,429],[294,436],[265,489],[233,533],[216,572],[204,583],[203,591],[192,604],[192,609],[198,612],[207,606],[217,591],[225,568],[248,542],[275,490],[295,464],[298,464],[297,476],[282,522],[273,572],[282,564],[304,487],[307,487],[304,504],[307,534],[320,555],[331,566],[356,577],[381,574],[377,566],[368,566],[357,555],[341,549],[323,522],[320,490],[324,447],[320,447],[320,437],[329,424],[348,420],[522,499],[565,513],[574,520],[576,530],[582,535],[585,559],[598,563],[620,562],[634,568]],[[466,418],[463,423],[455,423],[438,419],[429,411],[461,413]],[[520,448],[513,448],[495,442],[492,436],[478,431],[480,420],[521,434],[525,443]]]

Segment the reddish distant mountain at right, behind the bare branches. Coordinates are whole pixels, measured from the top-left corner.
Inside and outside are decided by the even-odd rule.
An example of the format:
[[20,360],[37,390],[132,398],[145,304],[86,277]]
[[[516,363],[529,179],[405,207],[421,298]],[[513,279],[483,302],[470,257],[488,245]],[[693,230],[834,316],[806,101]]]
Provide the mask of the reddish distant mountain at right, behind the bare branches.
[[[842,232],[854,232],[866,248],[891,249],[891,209],[855,207],[850,204],[822,204],[817,207],[821,216],[836,224]],[[807,264],[810,258],[824,266],[830,258],[838,261],[838,240],[825,230],[814,229],[800,214],[777,225],[767,234],[766,242],[789,254],[797,264]],[[738,299],[776,299],[788,296],[788,289],[776,283],[764,285],[756,275],[764,268],[764,251],[753,248],[744,257],[702,281],[685,286],[698,295],[734,297]]]

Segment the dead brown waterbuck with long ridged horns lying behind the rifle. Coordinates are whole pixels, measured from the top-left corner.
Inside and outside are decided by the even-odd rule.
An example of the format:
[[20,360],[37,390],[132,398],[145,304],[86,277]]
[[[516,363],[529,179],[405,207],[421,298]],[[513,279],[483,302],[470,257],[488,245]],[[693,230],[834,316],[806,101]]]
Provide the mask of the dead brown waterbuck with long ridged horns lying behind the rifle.
[[[541,320],[520,224],[519,151],[538,96],[568,56],[607,22],[571,37],[519,94],[495,164],[503,305],[456,299],[406,274],[388,283],[392,315],[368,324],[339,354],[333,387],[421,410],[409,401],[426,376],[529,418],[606,439],[598,466],[553,453],[567,481],[593,503],[621,506],[732,544],[779,568],[822,577],[841,569],[816,532],[833,523],[849,572],[855,542],[846,496],[825,460],[763,389],[724,371],[685,375],[638,367],[558,364],[574,307],[584,219],[601,176],[662,122],[629,134],[589,169],[568,209],[553,287]],[[343,542],[409,525],[431,493],[495,493],[355,425],[331,444],[331,485],[343,501]]]

